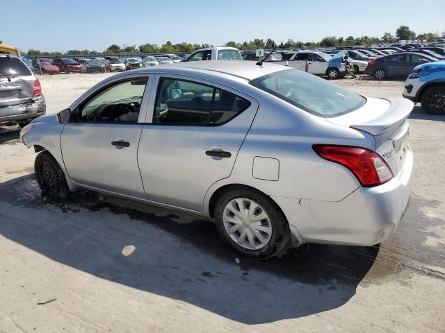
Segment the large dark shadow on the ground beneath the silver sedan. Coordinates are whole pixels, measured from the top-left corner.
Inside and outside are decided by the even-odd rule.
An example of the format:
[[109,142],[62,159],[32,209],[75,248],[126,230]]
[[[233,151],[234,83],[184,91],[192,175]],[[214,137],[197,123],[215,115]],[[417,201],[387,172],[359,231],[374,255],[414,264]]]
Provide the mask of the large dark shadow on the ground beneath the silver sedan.
[[380,250],[310,244],[257,262],[232,252],[209,221],[89,191],[63,204],[44,203],[39,193],[33,175],[0,185],[3,237],[99,278],[241,323],[340,307]]

